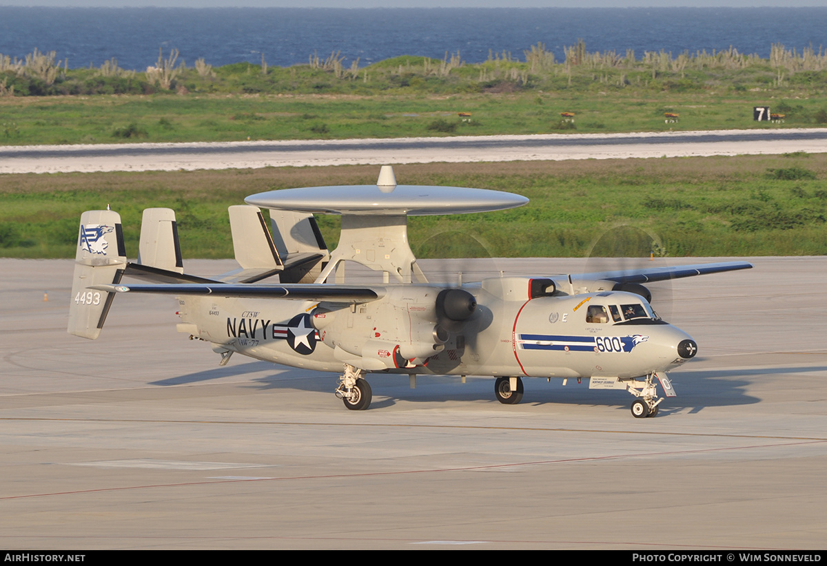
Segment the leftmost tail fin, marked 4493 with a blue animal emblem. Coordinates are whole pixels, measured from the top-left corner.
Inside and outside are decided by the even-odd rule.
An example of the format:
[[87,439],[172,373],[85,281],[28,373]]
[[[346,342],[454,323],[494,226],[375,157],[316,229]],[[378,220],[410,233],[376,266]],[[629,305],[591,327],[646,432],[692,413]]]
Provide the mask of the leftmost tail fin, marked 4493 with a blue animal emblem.
[[121,215],[113,211],[84,212],[74,258],[69,334],[92,340],[98,337],[115,294],[88,287],[120,283],[126,266]]

